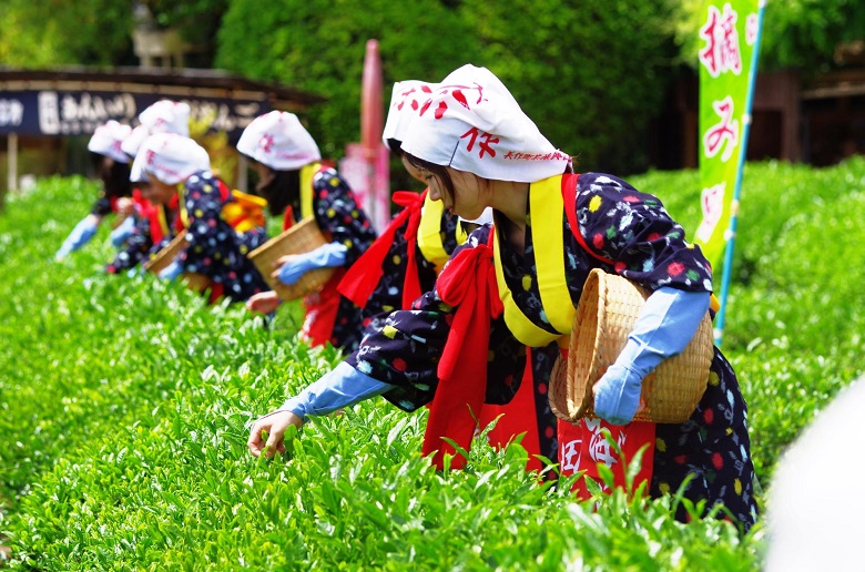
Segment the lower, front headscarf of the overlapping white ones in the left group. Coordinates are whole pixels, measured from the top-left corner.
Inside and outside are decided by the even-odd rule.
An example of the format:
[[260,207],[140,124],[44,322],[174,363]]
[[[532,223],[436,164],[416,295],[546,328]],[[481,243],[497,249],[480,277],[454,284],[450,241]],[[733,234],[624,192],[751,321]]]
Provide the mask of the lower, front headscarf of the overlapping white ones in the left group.
[[210,171],[207,152],[190,137],[176,133],[157,133],[144,140],[130,170],[130,181],[147,182],[151,177],[176,185],[199,171]]

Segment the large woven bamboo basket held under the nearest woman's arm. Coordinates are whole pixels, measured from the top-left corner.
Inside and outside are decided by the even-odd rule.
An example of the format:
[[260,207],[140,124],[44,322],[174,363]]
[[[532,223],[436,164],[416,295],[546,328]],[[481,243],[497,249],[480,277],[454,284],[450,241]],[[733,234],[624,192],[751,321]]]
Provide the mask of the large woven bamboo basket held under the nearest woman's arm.
[[[553,367],[549,399],[561,419],[593,418],[592,386],[615,361],[651,293],[630,280],[594,269],[577,306],[567,368]],[[709,313],[684,351],[645,376],[635,421],[682,423],[696,409],[714,355]],[[561,360],[560,360],[561,361]]]

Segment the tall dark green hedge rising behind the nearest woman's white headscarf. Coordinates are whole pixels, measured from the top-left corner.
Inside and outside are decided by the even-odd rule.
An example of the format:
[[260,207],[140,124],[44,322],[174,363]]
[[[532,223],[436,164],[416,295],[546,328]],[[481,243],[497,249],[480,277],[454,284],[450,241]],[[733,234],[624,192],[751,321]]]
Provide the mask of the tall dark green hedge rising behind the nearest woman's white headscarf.
[[359,79],[366,41],[375,38],[388,101],[395,81],[440,81],[465,63],[485,65],[554,145],[598,168],[648,165],[647,129],[675,53],[669,0],[552,0],[542,8],[528,0],[372,0],[363,9],[279,0],[271,7],[262,13],[255,0],[232,2],[216,64],[330,96],[309,113],[325,154],[342,154],[359,136]]

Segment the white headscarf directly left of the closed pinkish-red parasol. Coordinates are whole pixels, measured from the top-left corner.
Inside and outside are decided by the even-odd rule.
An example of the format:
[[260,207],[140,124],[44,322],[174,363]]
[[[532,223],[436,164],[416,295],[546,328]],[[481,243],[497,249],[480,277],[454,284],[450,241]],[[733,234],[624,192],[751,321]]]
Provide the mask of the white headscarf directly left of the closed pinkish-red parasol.
[[272,111],[250,123],[237,151],[275,171],[296,171],[322,159],[318,145],[294,113]]

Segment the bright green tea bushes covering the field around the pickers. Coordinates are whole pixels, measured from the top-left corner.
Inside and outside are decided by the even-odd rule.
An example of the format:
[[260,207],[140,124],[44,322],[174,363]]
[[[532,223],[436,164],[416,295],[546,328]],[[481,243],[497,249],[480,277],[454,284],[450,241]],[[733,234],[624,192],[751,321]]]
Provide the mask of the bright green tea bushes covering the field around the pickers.
[[[630,177],[688,228],[696,173]],[[725,354],[771,493],[783,449],[865,369],[865,159],[749,164]],[[256,460],[251,421],[329,369],[294,307],[264,327],[179,285],[108,276],[106,229],[52,253],[96,194],[43,180],[0,214],[0,544],[11,570],[754,570],[764,529],[680,524],[672,499],[577,503],[472,448],[467,470],[419,458],[425,413],[380,400],[317,419]],[[58,210],[63,204],[65,208]],[[831,256],[826,256],[832,252]],[[838,276],[843,273],[843,276]]]

